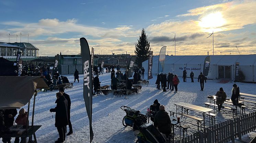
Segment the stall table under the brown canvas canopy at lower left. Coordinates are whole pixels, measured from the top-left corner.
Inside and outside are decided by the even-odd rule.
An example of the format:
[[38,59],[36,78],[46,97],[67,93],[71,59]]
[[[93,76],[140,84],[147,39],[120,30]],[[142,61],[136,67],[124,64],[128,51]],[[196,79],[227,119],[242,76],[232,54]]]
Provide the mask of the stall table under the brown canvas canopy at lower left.
[[36,134],[35,132],[41,127],[41,125],[37,125],[37,126],[33,126],[31,128],[31,126],[28,126],[28,131],[26,133],[26,131],[24,131],[22,134],[18,134],[18,132],[10,132],[10,133],[1,133],[0,134],[0,138],[16,138],[16,137],[29,137],[29,142],[32,141],[32,135],[34,137],[34,143],[37,143],[36,141]]

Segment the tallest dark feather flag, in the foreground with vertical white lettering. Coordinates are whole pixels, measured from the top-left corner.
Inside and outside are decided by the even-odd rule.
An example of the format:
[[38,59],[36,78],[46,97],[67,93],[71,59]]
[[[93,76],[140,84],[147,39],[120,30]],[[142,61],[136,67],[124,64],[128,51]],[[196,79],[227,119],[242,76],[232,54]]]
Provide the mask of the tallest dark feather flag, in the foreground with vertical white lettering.
[[84,82],[83,82],[83,97],[85,102],[85,107],[90,124],[90,142],[93,140],[93,130],[92,130],[92,95],[93,95],[93,85],[92,85],[92,64],[90,56],[90,48],[87,40],[85,38],[80,38],[81,55],[84,68]]

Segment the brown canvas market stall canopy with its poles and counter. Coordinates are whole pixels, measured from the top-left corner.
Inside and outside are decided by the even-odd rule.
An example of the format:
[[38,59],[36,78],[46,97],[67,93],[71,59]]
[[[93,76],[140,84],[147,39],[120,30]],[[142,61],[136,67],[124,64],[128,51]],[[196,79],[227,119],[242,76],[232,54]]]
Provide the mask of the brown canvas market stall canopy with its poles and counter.
[[[37,92],[49,87],[40,76],[0,76],[0,81],[0,109],[19,109],[28,104],[26,132],[18,136],[15,133],[0,134],[0,138],[23,136],[30,137],[29,140],[32,142],[33,135],[36,142],[35,132],[41,126],[34,126],[35,98]],[[33,96],[33,112],[30,126],[28,124],[28,117],[30,113],[30,100]]]

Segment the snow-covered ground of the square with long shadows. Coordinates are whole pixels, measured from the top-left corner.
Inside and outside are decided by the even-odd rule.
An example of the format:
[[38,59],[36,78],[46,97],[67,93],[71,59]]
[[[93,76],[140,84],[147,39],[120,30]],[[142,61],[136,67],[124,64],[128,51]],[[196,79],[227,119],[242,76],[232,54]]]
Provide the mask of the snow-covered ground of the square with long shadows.
[[[69,78],[70,82],[73,82],[73,75],[65,75]],[[147,75],[145,75],[147,76]],[[110,85],[110,73],[104,73],[100,75],[101,85]],[[181,83],[178,85],[178,92],[175,93],[171,90],[163,92],[156,89],[155,80],[156,76],[150,80],[150,85],[142,85],[142,92],[139,94],[128,95],[128,99],[123,97],[117,97],[113,94],[109,95],[97,95],[93,97],[93,115],[92,115],[92,127],[94,131],[95,143],[134,143],[137,137],[133,135],[131,127],[124,127],[122,125],[122,119],[126,113],[120,109],[120,106],[129,106],[132,109],[139,111],[146,111],[155,99],[158,99],[160,104],[165,105],[165,110],[175,110],[174,103],[187,102],[199,106],[205,106],[205,102],[209,102],[207,96],[215,95],[220,87],[223,87],[227,94],[227,98],[231,98],[231,89],[233,82],[226,84],[217,83],[219,80],[207,80],[205,83],[204,91],[200,91],[200,84],[195,80],[195,83],[191,83],[187,78],[187,82],[182,82],[182,77],[179,77]],[[65,92],[70,95],[71,99],[71,123],[73,126],[73,134],[66,137],[67,143],[87,143],[89,142],[89,120],[85,109],[85,103],[83,99],[83,80],[80,75],[80,83],[74,83],[74,88],[66,89]],[[248,94],[256,94],[256,84],[250,83],[236,83],[240,87],[240,92]],[[36,132],[38,143],[54,143],[58,138],[57,128],[54,126],[55,113],[49,112],[50,108],[56,106],[56,94],[55,91],[40,92],[36,97],[35,107],[35,119],[34,125],[42,125],[42,127]],[[31,104],[31,111],[33,106],[33,100]],[[246,113],[256,111],[255,104],[245,102],[247,105]],[[27,110],[27,105],[24,106]],[[19,112],[19,110],[18,110]],[[32,112],[30,112],[32,115]],[[192,112],[191,112],[192,113]],[[232,118],[232,113],[229,110],[216,109],[213,112],[217,114],[216,123]],[[202,117],[200,113],[194,113],[195,116]],[[31,121],[30,116],[30,121]],[[30,123],[31,124],[31,123]],[[197,131],[197,124],[195,120],[186,119],[185,124],[190,126],[188,134]],[[206,126],[209,126],[209,120],[206,119]],[[12,139],[14,142],[14,139]],[[0,141],[1,143],[1,141]]]

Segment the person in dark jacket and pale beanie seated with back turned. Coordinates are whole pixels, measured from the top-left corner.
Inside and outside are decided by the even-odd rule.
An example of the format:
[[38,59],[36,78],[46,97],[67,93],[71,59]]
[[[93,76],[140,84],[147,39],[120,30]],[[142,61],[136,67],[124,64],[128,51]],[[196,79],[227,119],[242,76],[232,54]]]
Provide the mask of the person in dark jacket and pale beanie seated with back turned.
[[166,138],[168,138],[172,132],[171,119],[165,111],[164,105],[161,105],[160,110],[155,114],[154,126],[158,128],[159,132],[165,134]]

